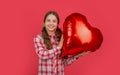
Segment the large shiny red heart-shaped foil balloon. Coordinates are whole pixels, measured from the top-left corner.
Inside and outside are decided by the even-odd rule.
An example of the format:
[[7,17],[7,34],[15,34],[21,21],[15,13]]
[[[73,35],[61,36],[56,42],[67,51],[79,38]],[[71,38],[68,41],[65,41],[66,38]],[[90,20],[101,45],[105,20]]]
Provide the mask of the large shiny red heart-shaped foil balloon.
[[62,57],[83,51],[96,51],[103,41],[100,30],[92,27],[80,13],[72,13],[65,19],[63,38]]

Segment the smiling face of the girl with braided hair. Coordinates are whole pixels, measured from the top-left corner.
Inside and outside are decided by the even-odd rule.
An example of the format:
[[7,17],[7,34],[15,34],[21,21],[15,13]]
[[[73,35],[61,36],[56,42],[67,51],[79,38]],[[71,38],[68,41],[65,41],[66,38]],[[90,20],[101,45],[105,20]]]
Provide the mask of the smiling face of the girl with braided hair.
[[58,21],[55,15],[50,14],[46,17],[45,26],[48,32],[55,32],[57,29]]

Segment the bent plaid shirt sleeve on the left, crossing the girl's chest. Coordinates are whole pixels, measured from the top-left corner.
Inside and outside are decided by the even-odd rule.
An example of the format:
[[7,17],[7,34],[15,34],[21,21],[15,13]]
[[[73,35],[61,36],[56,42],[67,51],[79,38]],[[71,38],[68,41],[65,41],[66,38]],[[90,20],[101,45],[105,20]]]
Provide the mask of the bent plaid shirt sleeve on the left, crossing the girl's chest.
[[61,53],[59,47],[54,47],[53,49],[50,50],[46,49],[43,46],[42,37],[38,35],[34,38],[34,45],[35,45],[36,54],[40,59],[50,59]]

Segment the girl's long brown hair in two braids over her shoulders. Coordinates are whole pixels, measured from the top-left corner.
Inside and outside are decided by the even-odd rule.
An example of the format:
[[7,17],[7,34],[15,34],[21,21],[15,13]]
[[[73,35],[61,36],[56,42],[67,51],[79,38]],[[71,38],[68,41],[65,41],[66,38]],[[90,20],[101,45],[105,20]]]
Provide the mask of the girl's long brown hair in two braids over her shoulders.
[[[50,14],[55,15],[55,17],[57,18],[57,24],[59,24],[59,16],[58,16],[58,14],[57,14],[55,11],[49,11],[49,12],[47,12],[46,15],[45,15],[45,17],[44,17],[44,22],[45,22],[45,20],[46,20],[46,17],[47,17],[48,15],[50,15]],[[57,27],[56,32],[55,32],[55,35],[56,35],[56,42],[59,42],[59,41],[60,41],[60,38],[61,38],[61,35],[62,35],[62,31],[61,31],[60,28]],[[44,44],[46,45],[46,48],[47,48],[48,50],[52,49],[53,46],[52,46],[52,44],[51,44],[49,35],[48,35],[45,27],[43,27],[43,29],[42,29],[42,37],[43,37],[43,39],[44,39]]]

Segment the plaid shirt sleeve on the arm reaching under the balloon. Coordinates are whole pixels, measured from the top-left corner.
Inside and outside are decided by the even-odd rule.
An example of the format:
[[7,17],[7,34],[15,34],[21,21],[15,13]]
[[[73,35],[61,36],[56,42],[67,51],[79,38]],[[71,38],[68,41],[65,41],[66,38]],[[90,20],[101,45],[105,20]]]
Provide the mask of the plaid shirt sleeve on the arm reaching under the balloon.
[[76,56],[67,56],[67,57],[64,57],[62,60],[63,60],[64,66],[68,66],[68,65],[71,65],[73,62],[75,62],[77,59],[78,57]]

